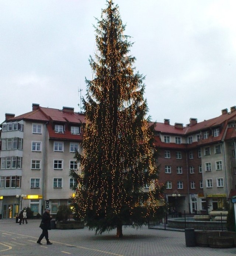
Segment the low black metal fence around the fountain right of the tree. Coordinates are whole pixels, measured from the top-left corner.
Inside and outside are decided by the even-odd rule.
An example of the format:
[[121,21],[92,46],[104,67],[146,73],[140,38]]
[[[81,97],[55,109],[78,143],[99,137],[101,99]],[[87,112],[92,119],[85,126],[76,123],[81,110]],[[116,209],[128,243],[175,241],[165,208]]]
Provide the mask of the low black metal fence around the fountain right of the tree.
[[167,213],[166,216],[156,222],[148,223],[149,229],[164,229],[184,231],[186,228],[195,230],[227,230],[226,216],[220,213],[218,216],[212,216],[205,213]]

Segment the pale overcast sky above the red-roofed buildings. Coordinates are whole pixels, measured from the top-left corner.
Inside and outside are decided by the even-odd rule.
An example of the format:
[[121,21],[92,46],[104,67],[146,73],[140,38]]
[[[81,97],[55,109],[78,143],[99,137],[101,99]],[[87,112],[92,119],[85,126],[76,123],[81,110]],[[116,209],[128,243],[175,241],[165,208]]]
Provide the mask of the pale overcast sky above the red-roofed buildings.
[[[146,75],[153,121],[188,124],[236,105],[235,0],[114,0]],[[32,103],[80,111],[105,0],[0,0],[0,122]]]

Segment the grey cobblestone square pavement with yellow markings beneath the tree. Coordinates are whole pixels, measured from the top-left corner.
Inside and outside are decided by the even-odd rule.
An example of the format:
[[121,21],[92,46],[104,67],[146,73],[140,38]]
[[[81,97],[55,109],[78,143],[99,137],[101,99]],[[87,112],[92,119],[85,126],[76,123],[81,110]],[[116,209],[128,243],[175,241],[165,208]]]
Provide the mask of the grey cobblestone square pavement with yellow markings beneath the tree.
[[53,255],[53,256],[224,256],[236,255],[236,247],[212,249],[186,247],[184,232],[148,229],[123,229],[124,237],[117,239],[115,230],[94,235],[87,228],[49,230],[52,245],[36,243],[41,229],[40,220],[28,220],[18,225],[13,219],[0,220],[0,256]]

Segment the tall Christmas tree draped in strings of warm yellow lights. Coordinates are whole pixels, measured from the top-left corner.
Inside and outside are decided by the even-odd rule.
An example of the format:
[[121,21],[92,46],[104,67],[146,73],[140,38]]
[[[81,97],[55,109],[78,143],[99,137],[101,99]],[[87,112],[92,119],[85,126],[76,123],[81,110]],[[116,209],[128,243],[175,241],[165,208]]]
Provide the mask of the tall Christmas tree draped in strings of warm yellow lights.
[[153,131],[146,118],[144,77],[135,72],[132,43],[112,0],[95,28],[97,52],[90,56],[93,78],[86,79],[74,209],[96,233],[117,229],[121,237],[122,225],[140,227],[158,212]]

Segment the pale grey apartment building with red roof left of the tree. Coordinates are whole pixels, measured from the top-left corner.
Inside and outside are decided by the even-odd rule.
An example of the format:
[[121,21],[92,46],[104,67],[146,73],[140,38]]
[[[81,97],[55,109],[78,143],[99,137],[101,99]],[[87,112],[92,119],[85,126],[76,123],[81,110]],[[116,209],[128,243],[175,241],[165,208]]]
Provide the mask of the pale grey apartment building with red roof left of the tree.
[[6,114],[1,125],[0,210],[14,218],[24,207],[42,214],[60,204],[69,204],[77,170],[75,149],[81,151],[84,114],[32,105],[32,111],[15,117]]

